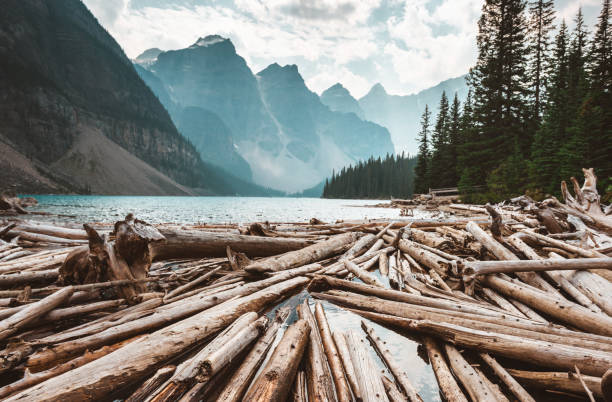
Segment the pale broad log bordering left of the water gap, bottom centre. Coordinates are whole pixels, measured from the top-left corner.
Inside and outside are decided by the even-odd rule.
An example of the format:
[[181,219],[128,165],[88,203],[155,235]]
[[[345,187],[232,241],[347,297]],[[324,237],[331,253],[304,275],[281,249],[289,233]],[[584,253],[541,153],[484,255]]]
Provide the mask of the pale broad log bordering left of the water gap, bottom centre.
[[365,349],[363,339],[353,330],[349,330],[345,338],[363,401],[389,401],[376,365]]

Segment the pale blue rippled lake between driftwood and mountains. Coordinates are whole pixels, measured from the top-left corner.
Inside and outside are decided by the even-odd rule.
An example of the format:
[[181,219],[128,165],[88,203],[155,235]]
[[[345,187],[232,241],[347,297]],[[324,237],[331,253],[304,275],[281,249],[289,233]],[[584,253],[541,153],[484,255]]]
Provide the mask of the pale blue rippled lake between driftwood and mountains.
[[[399,209],[373,208],[381,200],[328,200],[273,197],[148,197],[97,195],[33,195],[32,211],[68,215],[76,222],[115,222],[133,213],[149,223],[307,222],[399,219]],[[415,214],[419,211],[415,211]],[[422,213],[425,217],[425,213]],[[418,215],[416,215],[418,217]],[[49,217],[41,217],[49,220]]]

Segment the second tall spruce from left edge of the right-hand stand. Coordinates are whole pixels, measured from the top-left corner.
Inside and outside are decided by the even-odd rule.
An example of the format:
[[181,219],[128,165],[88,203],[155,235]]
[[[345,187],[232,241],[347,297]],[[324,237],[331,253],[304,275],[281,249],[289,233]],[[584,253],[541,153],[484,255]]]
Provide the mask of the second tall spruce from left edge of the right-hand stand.
[[430,187],[445,187],[446,176],[450,168],[449,150],[449,105],[446,92],[442,91],[438,116],[431,134],[431,163],[430,163]]

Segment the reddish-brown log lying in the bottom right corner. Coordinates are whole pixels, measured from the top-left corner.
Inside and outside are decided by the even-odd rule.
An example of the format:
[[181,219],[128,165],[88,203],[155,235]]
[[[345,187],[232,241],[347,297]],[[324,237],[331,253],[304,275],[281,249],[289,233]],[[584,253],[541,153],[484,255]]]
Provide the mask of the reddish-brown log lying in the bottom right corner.
[[[584,389],[580,380],[572,371],[526,371],[508,369],[508,373],[521,384],[530,388],[552,389],[557,391],[583,394]],[[582,379],[591,392],[599,398],[603,397],[601,378],[583,375]]]

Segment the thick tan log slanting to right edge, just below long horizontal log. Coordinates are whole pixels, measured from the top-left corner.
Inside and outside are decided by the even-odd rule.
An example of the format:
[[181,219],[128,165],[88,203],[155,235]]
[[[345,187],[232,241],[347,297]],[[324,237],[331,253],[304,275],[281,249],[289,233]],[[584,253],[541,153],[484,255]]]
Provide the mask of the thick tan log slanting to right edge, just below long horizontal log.
[[556,319],[595,334],[612,336],[612,317],[597,314],[576,303],[561,300],[526,286],[510,283],[489,275],[482,282],[498,292]]

